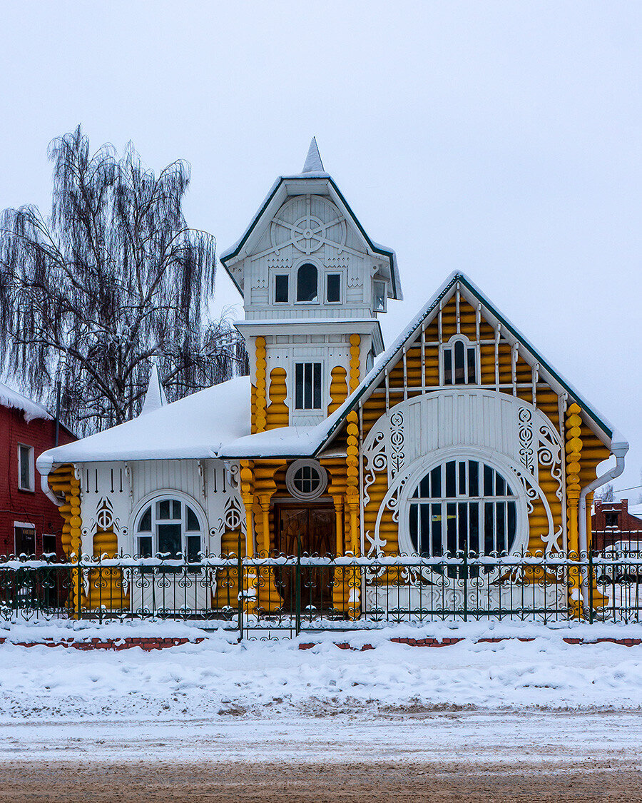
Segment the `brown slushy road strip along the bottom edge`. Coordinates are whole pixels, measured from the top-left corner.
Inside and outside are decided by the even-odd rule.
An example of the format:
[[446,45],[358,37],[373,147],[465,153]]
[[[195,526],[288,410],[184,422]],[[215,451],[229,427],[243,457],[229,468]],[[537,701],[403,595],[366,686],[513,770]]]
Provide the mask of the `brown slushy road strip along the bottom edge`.
[[[589,762],[591,764],[591,762]],[[642,772],[584,764],[575,771],[519,764],[95,764],[0,765],[4,803],[92,801],[640,801]]]

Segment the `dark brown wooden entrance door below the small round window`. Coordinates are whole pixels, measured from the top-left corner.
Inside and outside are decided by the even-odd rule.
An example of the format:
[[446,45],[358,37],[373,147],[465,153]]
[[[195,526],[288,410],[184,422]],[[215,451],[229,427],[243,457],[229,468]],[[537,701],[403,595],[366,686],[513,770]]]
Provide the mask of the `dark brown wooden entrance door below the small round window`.
[[[332,507],[277,508],[277,549],[284,555],[297,555],[300,539],[301,553],[305,556],[325,557],[332,553],[335,544],[335,512]],[[332,605],[331,567],[302,566],[300,574],[301,609],[304,613],[310,606],[328,609]],[[283,607],[295,609],[296,568],[284,566],[274,571],[278,593]]]

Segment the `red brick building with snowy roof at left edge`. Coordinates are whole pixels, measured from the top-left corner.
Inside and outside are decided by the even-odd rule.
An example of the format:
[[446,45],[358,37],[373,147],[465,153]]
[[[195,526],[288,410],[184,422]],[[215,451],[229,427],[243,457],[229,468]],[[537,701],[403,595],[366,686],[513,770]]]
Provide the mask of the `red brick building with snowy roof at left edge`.
[[[59,426],[59,443],[74,436]],[[62,519],[40,487],[39,454],[55,445],[55,421],[43,406],[0,383],[0,555],[56,552]]]

